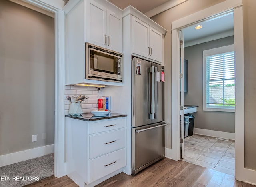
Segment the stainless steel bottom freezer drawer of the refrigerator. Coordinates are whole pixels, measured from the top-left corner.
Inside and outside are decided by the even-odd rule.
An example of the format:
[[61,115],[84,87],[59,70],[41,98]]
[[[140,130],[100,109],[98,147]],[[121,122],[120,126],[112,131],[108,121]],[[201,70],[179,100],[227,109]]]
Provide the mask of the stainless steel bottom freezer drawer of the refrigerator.
[[156,123],[132,128],[132,174],[164,157],[164,126]]

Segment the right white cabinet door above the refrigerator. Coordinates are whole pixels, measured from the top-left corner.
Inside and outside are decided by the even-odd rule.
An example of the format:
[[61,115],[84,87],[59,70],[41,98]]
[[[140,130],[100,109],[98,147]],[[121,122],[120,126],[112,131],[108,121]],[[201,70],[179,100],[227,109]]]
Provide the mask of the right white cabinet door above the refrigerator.
[[162,62],[163,44],[162,33],[150,27],[149,34],[150,58]]

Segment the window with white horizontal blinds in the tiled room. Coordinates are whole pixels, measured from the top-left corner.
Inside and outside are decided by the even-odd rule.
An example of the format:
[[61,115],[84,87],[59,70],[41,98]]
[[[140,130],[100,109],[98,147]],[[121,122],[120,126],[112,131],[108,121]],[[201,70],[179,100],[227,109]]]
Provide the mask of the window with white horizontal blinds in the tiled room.
[[234,51],[206,56],[206,107],[234,109]]

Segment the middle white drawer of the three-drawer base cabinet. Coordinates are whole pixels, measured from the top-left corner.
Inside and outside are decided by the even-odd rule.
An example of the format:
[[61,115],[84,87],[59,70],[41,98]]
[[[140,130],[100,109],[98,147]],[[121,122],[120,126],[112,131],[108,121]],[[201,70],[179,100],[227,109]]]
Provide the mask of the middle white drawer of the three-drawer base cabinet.
[[125,147],[125,129],[90,136],[90,159]]

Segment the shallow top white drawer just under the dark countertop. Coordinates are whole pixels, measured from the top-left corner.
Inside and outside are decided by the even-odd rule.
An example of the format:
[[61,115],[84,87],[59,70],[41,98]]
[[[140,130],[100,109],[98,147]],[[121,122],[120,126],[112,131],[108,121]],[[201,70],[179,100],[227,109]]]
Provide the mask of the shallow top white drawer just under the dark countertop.
[[114,119],[89,123],[89,134],[120,129],[126,126],[126,119]]

